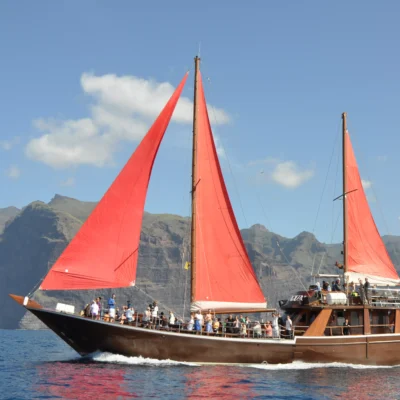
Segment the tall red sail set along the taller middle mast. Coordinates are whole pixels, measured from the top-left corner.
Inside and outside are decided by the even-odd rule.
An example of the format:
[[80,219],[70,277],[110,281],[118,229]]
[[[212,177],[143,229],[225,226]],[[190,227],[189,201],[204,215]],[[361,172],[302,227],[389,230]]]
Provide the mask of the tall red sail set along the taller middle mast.
[[198,72],[195,186],[196,256],[192,310],[265,309],[219,165]]

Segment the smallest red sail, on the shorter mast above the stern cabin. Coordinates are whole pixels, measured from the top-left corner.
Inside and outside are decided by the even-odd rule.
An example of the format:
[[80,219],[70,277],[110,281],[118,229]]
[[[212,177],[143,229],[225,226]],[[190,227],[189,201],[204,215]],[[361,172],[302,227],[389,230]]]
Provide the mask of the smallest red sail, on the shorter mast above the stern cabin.
[[347,274],[349,282],[368,277],[370,283],[399,284],[399,275],[390,260],[372,217],[358,172],[350,135],[346,132]]

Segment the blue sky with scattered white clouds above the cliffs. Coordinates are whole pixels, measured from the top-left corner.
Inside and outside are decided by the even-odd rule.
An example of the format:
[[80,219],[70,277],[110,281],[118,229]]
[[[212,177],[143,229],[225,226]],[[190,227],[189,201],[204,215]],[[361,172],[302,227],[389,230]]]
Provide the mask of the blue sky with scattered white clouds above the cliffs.
[[400,3],[0,2],[0,208],[101,198],[184,73],[146,210],[189,215],[193,58],[240,228],[342,240],[341,113],[400,235]]

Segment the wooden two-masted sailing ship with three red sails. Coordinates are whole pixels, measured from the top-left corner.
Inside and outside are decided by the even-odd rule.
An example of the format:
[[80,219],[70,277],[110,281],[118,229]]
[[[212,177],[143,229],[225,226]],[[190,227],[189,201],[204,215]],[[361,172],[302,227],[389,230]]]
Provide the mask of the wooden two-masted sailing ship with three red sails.
[[[192,154],[191,310],[217,314],[272,312],[250,263],[224,183],[208,117],[200,58],[195,58]],[[49,270],[40,290],[120,288],[135,285],[140,231],[151,171],[188,74],[76,236]],[[280,301],[294,335],[194,333],[148,329],[137,323],[93,320],[47,309],[10,295],[81,355],[126,356],[212,363],[341,361],[400,363],[400,278],[376,229],[362,188],[343,114],[344,261],[348,284],[368,277],[378,296],[370,303],[350,294],[308,291]],[[386,290],[387,289],[387,290]],[[348,319],[350,334],[338,321]]]

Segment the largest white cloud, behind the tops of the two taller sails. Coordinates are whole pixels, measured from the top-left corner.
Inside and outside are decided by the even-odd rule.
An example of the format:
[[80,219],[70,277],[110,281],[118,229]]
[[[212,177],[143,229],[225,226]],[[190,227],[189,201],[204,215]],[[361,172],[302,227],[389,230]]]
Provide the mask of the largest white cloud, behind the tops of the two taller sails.
[[[139,141],[174,91],[168,82],[113,74],[84,73],[81,86],[91,98],[90,115],[77,120],[34,121],[42,135],[28,143],[28,157],[54,168],[111,164],[118,145],[123,141]],[[213,107],[213,113],[216,124],[229,122],[223,110]],[[181,97],[172,120],[189,124],[192,115],[192,101]],[[220,153],[220,146],[217,148]]]

